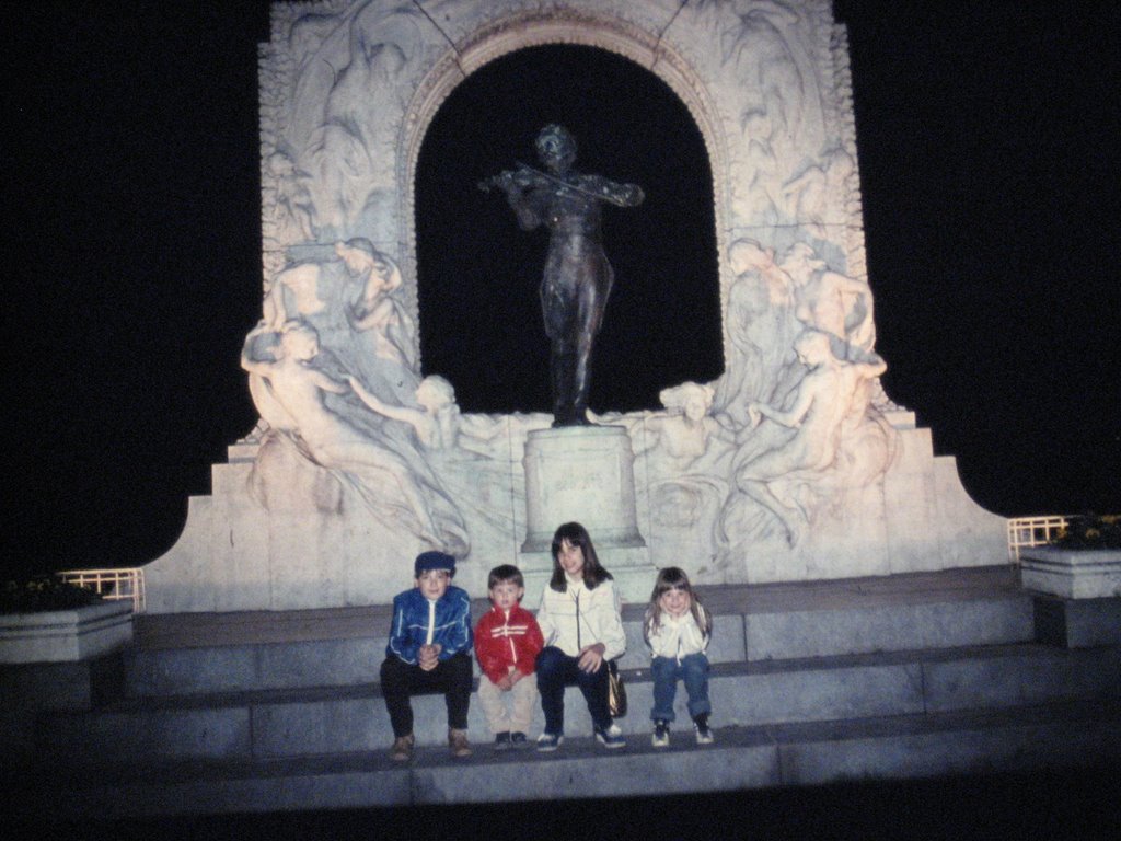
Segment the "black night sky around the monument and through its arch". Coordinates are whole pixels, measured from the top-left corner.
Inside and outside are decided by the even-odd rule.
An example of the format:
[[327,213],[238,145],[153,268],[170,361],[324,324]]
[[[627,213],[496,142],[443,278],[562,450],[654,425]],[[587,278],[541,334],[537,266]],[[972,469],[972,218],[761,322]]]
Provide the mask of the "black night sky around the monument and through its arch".
[[[936,452],[957,456],[990,510],[1121,508],[1121,10],[839,0],[836,12],[850,34],[889,396],[933,429]],[[13,571],[160,555],[186,498],[210,492],[211,464],[256,420],[238,355],[260,312],[257,44],[267,37],[263,2],[48,0],[8,18],[0,149],[13,274],[3,318],[15,339],[3,538]],[[531,157],[528,138],[547,117],[535,109],[565,108],[549,85],[584,103],[583,118],[560,114],[586,121],[572,126],[577,165],[651,196],[610,223],[620,279],[593,401],[652,406],[659,387],[722,367],[719,333],[714,357],[697,326],[714,290],[694,283],[715,271],[715,253],[675,243],[661,215],[671,205],[711,214],[697,187],[707,163],[680,163],[695,128],[674,122],[671,96],[655,102],[657,80],[624,74],[633,87],[590,89],[563,77],[580,52],[560,53],[512,56],[506,70],[484,68],[493,95],[464,85],[448,101],[425,147],[418,205],[436,209],[456,191],[473,206],[501,205],[474,182]],[[513,123],[508,105],[485,110],[530,84],[545,87],[522,96]],[[437,268],[436,252],[485,210],[432,210],[418,229],[426,372],[448,376],[470,410],[544,408],[535,389],[545,388],[547,349],[532,339],[539,243],[492,210],[501,241],[462,235],[474,251],[458,265],[474,274],[456,294],[475,276],[490,286],[466,287],[478,293],[456,302],[460,326],[426,315],[446,299],[441,278],[452,270]],[[433,228],[437,219],[452,228]],[[528,275],[495,279],[495,251],[522,255]],[[670,283],[628,288],[636,276]],[[642,311],[658,315],[640,321]],[[463,331],[479,335],[454,338]],[[659,357],[663,336],[695,352]],[[652,379],[613,359],[649,360]]]

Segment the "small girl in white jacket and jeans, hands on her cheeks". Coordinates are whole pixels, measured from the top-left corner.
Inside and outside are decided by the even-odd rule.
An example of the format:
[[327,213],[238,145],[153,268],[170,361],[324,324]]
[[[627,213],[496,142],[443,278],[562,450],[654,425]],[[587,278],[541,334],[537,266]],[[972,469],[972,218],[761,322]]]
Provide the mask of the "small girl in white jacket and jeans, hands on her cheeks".
[[708,701],[708,658],[704,651],[712,637],[712,617],[697,600],[688,576],[678,567],[667,566],[658,573],[642,636],[654,654],[650,664],[654,675],[651,743],[656,748],[669,746],[669,724],[676,718],[674,695],[680,678],[688,694],[697,745],[711,745],[708,715],[712,703]]

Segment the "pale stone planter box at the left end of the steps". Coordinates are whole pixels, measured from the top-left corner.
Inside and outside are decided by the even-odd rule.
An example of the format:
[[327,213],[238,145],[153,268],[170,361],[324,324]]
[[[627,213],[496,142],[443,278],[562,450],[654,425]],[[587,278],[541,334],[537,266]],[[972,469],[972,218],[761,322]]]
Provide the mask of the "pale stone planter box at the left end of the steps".
[[0,663],[84,660],[132,641],[132,603],[0,616]]

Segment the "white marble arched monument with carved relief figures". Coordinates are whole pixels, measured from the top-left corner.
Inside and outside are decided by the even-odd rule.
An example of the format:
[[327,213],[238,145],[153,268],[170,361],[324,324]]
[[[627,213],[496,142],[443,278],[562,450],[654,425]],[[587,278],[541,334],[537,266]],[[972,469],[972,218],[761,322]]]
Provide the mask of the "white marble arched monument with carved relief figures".
[[544,44],[659,76],[714,177],[724,373],[667,388],[660,410],[597,418],[633,462],[583,510],[621,524],[602,534],[631,553],[606,555],[634,572],[628,597],[668,564],[722,583],[1002,562],[1003,520],[880,386],[828,0],[327,0],[275,4],[261,47],[265,294],[242,354],[261,422],[148,565],[148,609],[387,602],[434,546],[474,595],[494,564],[543,563],[560,515],[540,480],[576,489],[577,451],[566,463],[552,442],[541,462],[527,437],[549,416],[461,415],[454,382],[421,378],[414,191],[453,89]]

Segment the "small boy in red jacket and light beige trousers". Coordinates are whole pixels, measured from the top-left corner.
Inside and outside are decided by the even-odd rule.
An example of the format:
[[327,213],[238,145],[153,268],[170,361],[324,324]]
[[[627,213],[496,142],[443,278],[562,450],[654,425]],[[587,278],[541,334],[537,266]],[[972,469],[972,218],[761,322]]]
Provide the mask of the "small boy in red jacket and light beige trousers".
[[524,748],[537,706],[534,660],[545,638],[534,614],[520,607],[526,582],[517,566],[495,566],[487,588],[492,607],[475,627],[475,656],[483,672],[479,703],[494,733],[494,749]]

